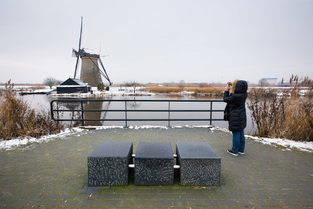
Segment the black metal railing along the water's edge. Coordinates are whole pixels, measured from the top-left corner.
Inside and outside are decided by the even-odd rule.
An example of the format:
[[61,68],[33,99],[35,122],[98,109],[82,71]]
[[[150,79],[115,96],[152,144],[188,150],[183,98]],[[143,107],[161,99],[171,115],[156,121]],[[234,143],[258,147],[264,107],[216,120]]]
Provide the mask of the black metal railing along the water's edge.
[[[80,109],[53,109],[54,102],[72,102],[80,104]],[[84,102],[125,102],[124,109],[106,109],[106,110],[86,110],[84,109]],[[167,102],[168,108],[167,109],[153,109],[153,110],[142,110],[142,109],[127,109],[128,102]],[[186,110],[178,110],[178,109],[171,109],[171,103],[176,102],[206,102],[209,105],[207,109],[202,110],[193,110],[193,109],[186,109]],[[213,110],[212,103],[213,102],[223,102],[223,100],[150,100],[150,99],[58,99],[52,100],[50,102],[50,110],[51,110],[51,117],[53,120],[56,121],[82,121],[82,125],[84,126],[84,121],[125,121],[125,126],[127,126],[127,121],[168,121],[168,127],[170,126],[170,121],[210,121],[210,125],[212,125],[212,121],[224,120],[223,118],[212,118],[212,112],[224,112],[224,110]],[[77,106],[77,105],[76,105]],[[80,112],[81,118],[68,118],[68,119],[60,119],[55,118],[55,112]],[[85,112],[125,112],[125,118],[84,118]],[[168,112],[167,118],[127,118],[127,113],[129,112]],[[172,112],[208,112],[208,118],[171,118],[170,113]]]

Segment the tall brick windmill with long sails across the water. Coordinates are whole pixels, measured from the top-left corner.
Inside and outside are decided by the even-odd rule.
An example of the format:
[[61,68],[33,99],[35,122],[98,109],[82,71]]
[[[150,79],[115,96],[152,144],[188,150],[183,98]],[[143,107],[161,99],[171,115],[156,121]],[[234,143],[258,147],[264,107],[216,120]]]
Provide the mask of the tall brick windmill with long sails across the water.
[[[100,59],[100,54],[93,53],[88,48],[81,48],[82,43],[82,29],[83,29],[83,17],[80,29],[79,37],[79,46],[78,51],[73,48],[72,57],[77,57],[74,79],[78,78],[78,67],[79,67],[79,57],[82,59],[82,67],[80,72],[80,80],[88,83],[89,86],[97,86],[99,83],[102,83],[101,75],[109,81],[110,86],[112,82],[103,66],[103,63]],[[98,62],[102,69],[99,68]]]

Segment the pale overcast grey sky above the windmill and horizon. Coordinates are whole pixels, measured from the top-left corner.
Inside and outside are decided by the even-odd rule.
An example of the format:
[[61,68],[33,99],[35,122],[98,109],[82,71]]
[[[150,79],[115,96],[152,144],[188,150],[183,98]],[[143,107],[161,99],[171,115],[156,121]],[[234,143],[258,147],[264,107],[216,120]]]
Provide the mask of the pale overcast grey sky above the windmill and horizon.
[[73,77],[81,16],[113,84],[313,78],[313,0],[0,0],[0,82]]

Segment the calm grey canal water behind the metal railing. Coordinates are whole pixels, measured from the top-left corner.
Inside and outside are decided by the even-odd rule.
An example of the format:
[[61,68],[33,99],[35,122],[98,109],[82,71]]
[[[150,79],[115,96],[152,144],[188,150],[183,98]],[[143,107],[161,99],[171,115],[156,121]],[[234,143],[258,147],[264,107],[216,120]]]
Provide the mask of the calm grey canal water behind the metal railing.
[[[23,95],[22,98],[29,102],[30,106],[35,109],[44,109],[45,111],[50,111],[50,101],[55,99],[73,99],[73,97],[55,97],[49,96],[46,94],[29,94]],[[89,97],[88,99],[92,99]],[[84,99],[84,98],[80,98]],[[87,98],[86,98],[87,99]],[[102,98],[99,98],[102,99]],[[177,94],[156,94],[149,96],[128,96],[128,95],[116,95],[110,97],[104,97],[104,99],[131,99],[131,100],[162,100],[162,99],[171,99],[171,100],[223,100],[223,97],[217,96],[192,96],[192,95],[177,95]],[[78,103],[79,104],[79,103]],[[67,104],[66,109],[68,109],[70,104]],[[74,106],[75,109],[80,109],[80,104]],[[168,110],[168,102],[127,102],[127,110]],[[213,110],[224,110],[224,102],[213,102]],[[117,110],[125,109],[125,102],[84,102],[85,110]],[[210,109],[209,102],[171,102],[171,110],[185,110],[185,109],[195,109],[195,110],[204,110]],[[247,111],[247,127],[245,129],[246,134],[251,134],[252,130],[252,120],[250,116],[250,111],[246,108]],[[128,112],[127,119],[149,119],[149,118],[160,118],[167,119],[169,116],[168,112]],[[69,114],[65,113],[64,118],[69,118]],[[209,118],[209,112],[171,112],[171,118]],[[125,112],[88,112],[84,113],[84,118],[106,118],[106,119],[125,119]],[[213,112],[212,118],[223,118],[223,112]],[[170,121],[170,126],[185,126],[185,125],[209,125],[210,121]],[[125,121],[86,121],[85,125],[93,126],[125,126]],[[127,121],[128,126],[142,126],[142,125],[151,125],[151,126],[168,126],[168,121]],[[212,125],[218,126],[221,128],[228,129],[227,121],[212,121]]]

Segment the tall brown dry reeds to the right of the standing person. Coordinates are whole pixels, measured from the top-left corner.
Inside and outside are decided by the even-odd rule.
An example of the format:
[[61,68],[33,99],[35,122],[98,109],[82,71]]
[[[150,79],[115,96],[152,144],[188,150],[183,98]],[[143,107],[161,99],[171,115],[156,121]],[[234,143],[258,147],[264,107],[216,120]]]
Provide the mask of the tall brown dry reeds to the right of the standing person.
[[291,89],[279,93],[263,87],[250,90],[247,107],[254,136],[313,141],[313,82],[292,75],[290,84]]

